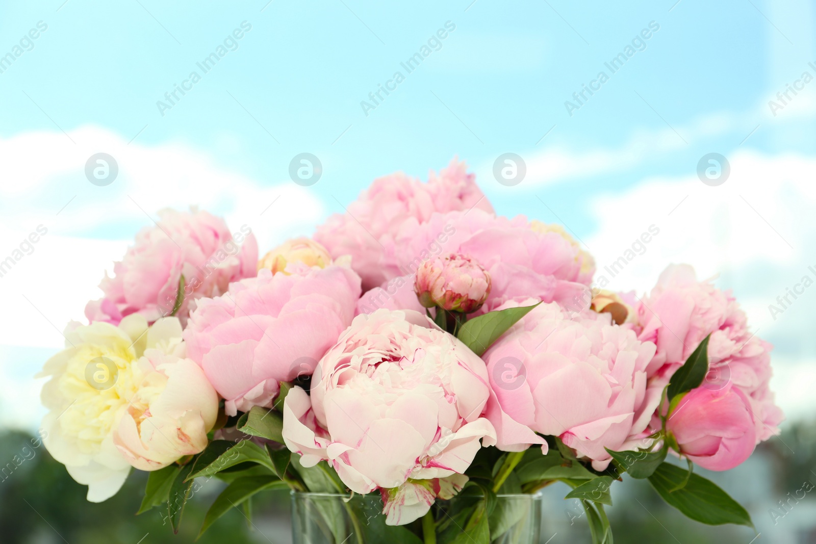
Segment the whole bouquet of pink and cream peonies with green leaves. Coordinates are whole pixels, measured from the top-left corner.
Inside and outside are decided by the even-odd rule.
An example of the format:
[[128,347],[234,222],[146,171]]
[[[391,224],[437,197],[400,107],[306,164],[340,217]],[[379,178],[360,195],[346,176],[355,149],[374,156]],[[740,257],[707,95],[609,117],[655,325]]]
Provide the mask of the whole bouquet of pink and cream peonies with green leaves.
[[612,542],[626,476],[750,526],[694,464],[728,470],[778,433],[771,346],[688,266],[641,298],[594,267],[560,226],[495,215],[457,161],[375,180],[260,260],[249,228],[166,210],[42,370],[44,443],[92,502],[149,471],[140,511],[174,530],[213,476],[202,531],[290,488],[344,495],[306,513],[337,544],[528,542],[513,527],[530,512],[500,499],[555,481]]

